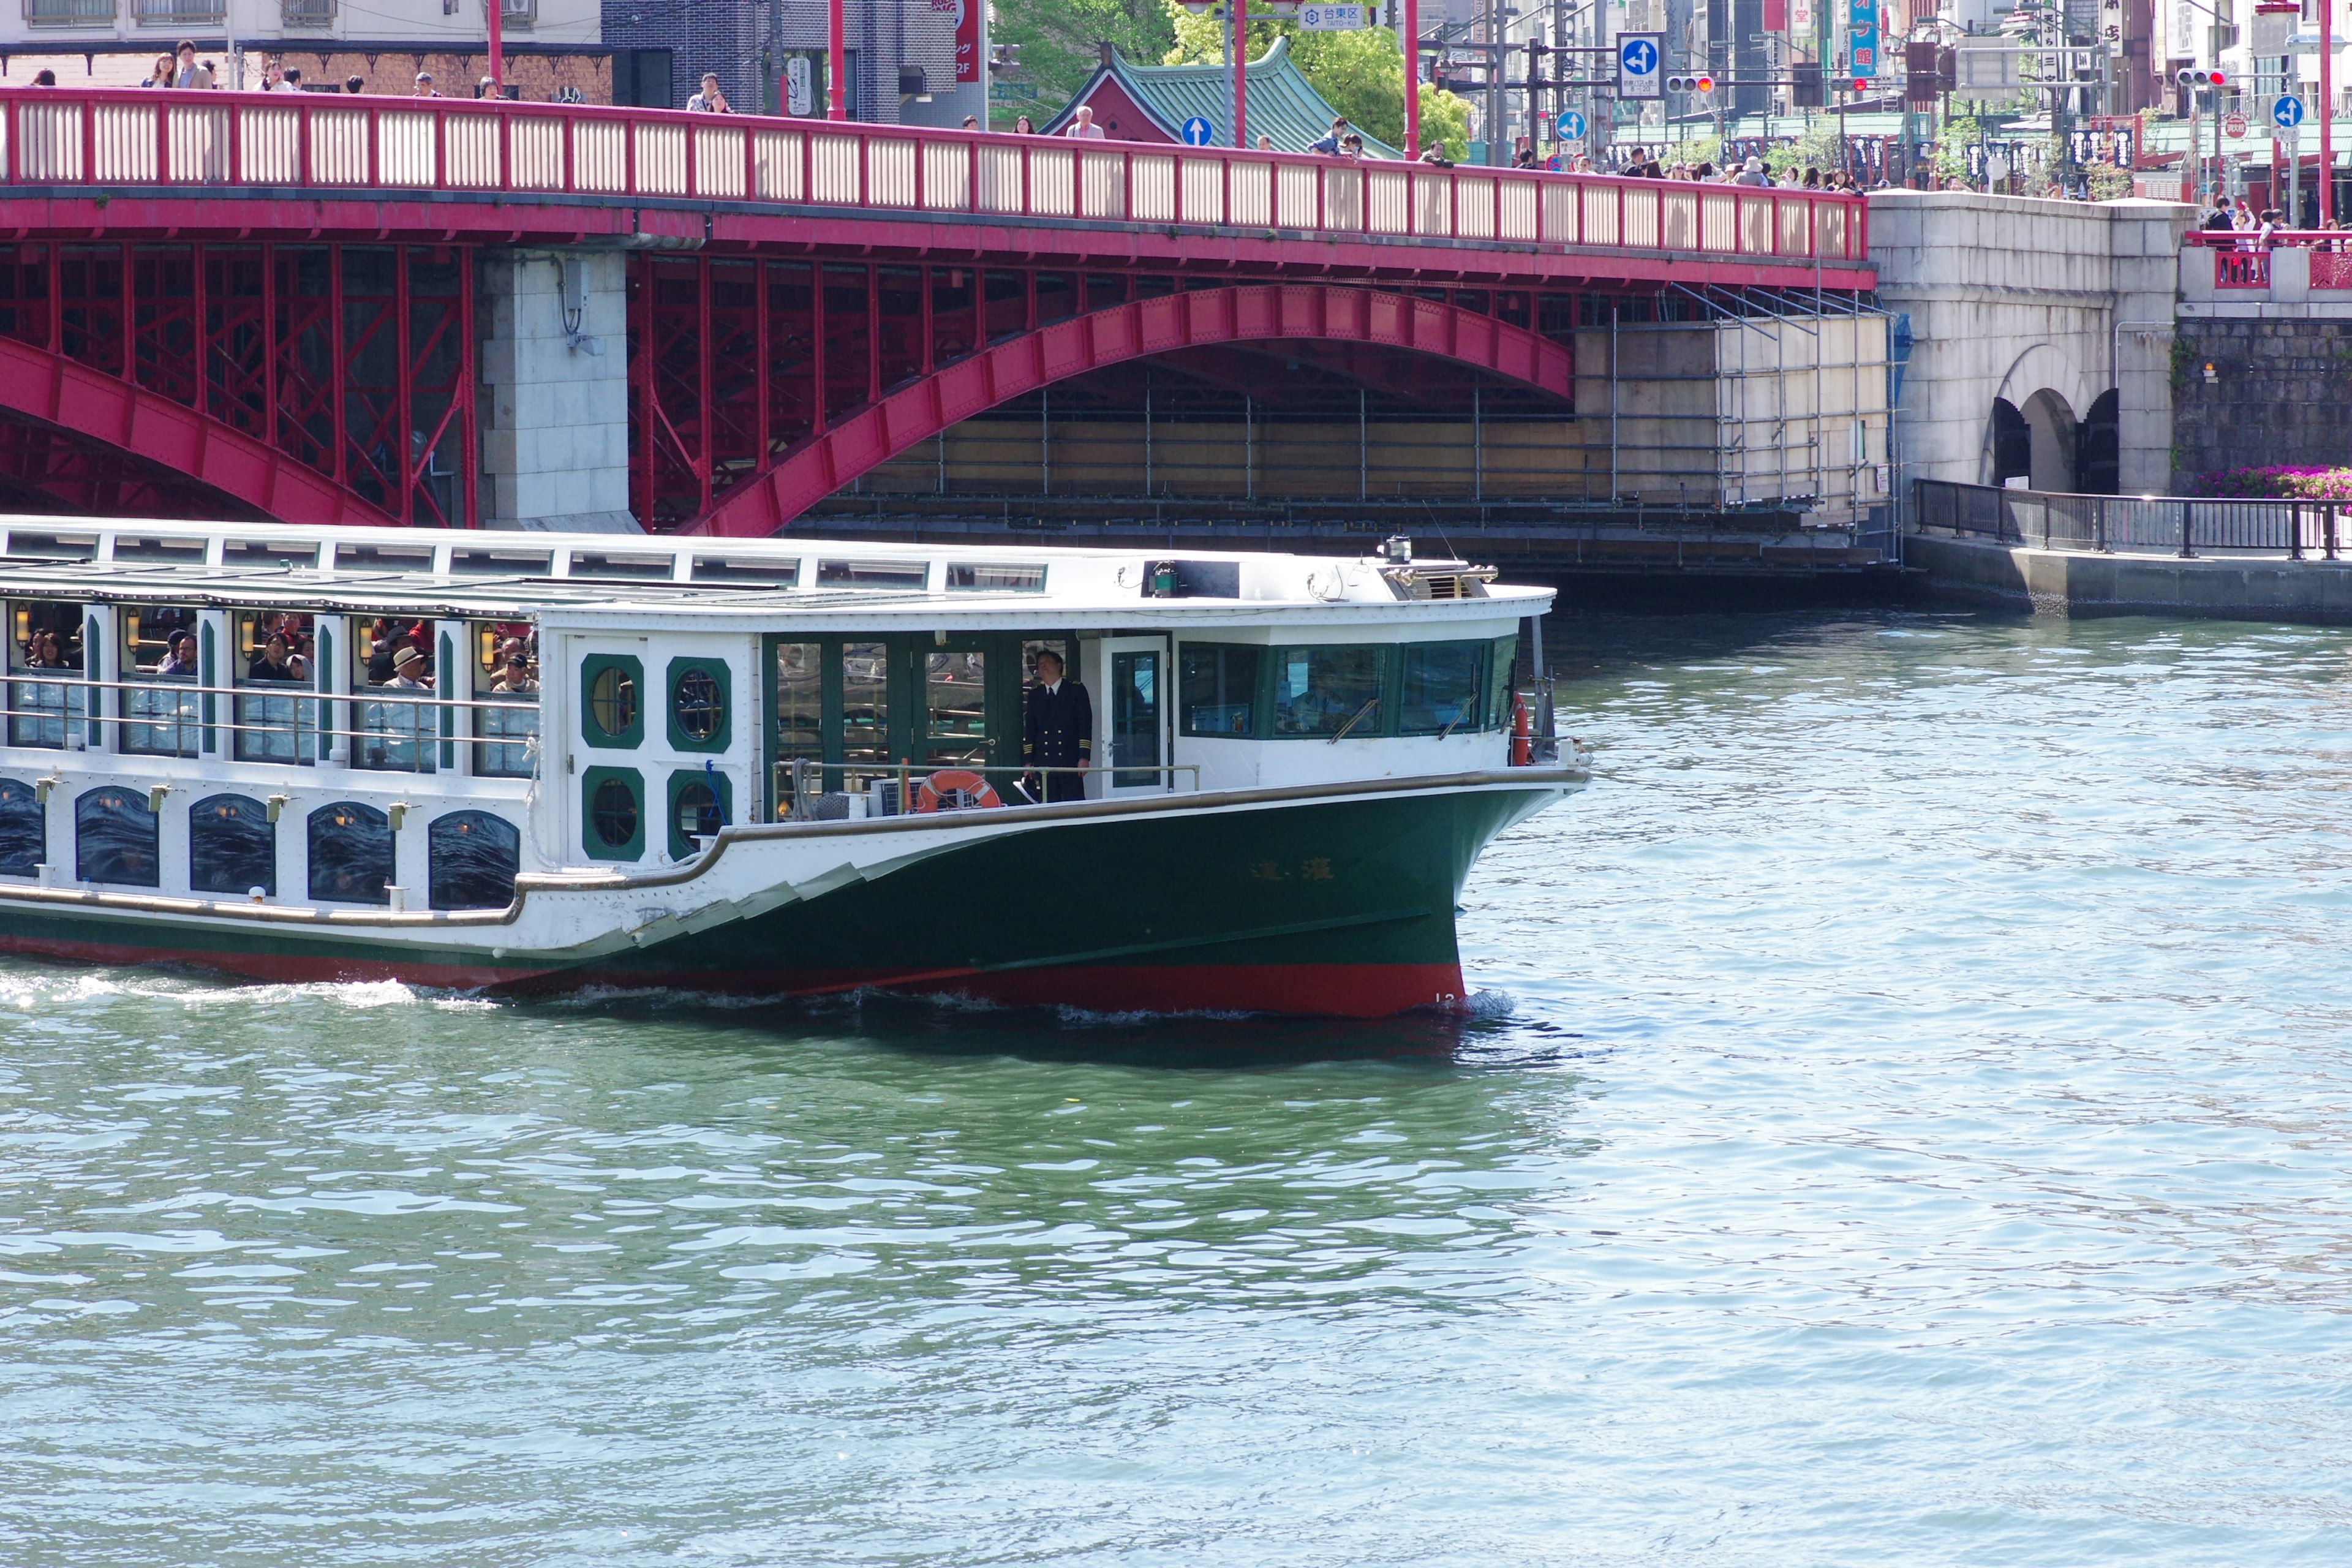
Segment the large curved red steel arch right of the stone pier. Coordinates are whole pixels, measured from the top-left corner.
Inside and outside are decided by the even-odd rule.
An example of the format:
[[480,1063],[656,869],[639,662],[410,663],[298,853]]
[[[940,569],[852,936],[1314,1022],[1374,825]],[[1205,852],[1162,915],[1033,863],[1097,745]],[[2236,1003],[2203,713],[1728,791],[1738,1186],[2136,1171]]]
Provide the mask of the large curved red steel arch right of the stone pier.
[[1319,339],[1409,348],[1569,397],[1566,343],[1475,310],[1341,284],[1249,284],[1136,299],[1040,327],[957,360],[840,425],[722,496],[682,534],[757,538],[948,425],[1084,371],[1209,343]]

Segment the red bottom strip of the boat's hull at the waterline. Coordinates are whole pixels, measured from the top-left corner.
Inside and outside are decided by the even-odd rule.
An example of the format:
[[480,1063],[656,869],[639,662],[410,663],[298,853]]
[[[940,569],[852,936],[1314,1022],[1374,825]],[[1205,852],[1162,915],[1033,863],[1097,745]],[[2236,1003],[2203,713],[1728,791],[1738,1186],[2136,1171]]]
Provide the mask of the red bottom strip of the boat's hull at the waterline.
[[176,947],[0,936],[0,952],[71,964],[169,964],[273,985],[400,980],[445,990],[567,992],[588,985],[628,990],[729,992],[753,997],[837,997],[889,990],[971,997],[1000,1006],[1075,1006],[1091,1013],[1303,1013],[1390,1018],[1416,1009],[1463,1006],[1461,964],[1084,964],[997,973],[901,971],[680,971],[626,976],[597,969],[506,969],[395,959],[308,957],[296,952],[198,952]]

